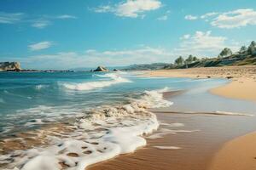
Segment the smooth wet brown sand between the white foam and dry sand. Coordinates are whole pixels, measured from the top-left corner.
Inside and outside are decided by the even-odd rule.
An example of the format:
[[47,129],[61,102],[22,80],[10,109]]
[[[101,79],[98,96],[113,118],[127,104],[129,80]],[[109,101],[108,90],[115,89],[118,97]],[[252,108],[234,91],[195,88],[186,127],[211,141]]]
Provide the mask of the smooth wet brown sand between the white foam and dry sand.
[[[253,131],[255,120],[247,116],[207,116],[156,113],[158,120],[165,123],[183,123],[184,127],[162,128],[191,130],[166,134],[161,139],[147,139],[147,146],[135,153],[118,156],[112,160],[97,163],[89,170],[205,170],[212,161],[212,155],[225,142]],[[250,121],[251,119],[251,121]],[[242,127],[248,122],[247,127]],[[195,131],[193,131],[195,130]],[[158,132],[156,132],[158,133]],[[154,146],[175,146],[181,149],[162,150]]]

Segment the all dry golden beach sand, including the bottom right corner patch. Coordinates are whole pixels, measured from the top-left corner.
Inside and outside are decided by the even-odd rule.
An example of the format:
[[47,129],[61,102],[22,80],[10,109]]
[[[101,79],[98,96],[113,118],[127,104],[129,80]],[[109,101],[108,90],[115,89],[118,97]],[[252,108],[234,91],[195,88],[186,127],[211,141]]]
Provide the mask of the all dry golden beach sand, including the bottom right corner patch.
[[[229,66],[212,68],[193,68],[169,71],[148,71],[150,77],[191,77],[191,78],[227,78],[230,82],[222,87],[210,90],[231,99],[256,101],[256,66]],[[224,144],[218,150],[207,167],[210,170],[252,170],[255,164],[256,133],[247,133]]]

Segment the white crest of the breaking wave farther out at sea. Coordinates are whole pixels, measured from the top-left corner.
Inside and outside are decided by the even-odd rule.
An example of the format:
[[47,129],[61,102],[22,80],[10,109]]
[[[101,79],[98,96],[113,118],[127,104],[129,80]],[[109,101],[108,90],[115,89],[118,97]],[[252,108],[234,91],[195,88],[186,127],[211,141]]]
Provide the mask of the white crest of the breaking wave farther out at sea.
[[97,75],[98,77],[108,77],[110,80],[104,80],[104,81],[97,81],[97,82],[80,82],[80,83],[71,83],[71,82],[65,82],[62,83],[62,86],[67,89],[71,90],[93,90],[96,88],[105,88],[112,86],[114,84],[124,83],[124,82],[131,82],[131,80],[120,77],[117,74],[106,74],[106,75]]

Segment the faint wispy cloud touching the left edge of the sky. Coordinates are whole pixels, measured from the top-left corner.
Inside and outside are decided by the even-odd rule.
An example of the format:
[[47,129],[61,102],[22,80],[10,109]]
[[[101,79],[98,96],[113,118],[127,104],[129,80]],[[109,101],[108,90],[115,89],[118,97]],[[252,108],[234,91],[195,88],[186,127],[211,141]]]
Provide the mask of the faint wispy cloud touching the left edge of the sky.
[[0,24],[15,24],[22,20],[23,13],[3,13],[0,12]]

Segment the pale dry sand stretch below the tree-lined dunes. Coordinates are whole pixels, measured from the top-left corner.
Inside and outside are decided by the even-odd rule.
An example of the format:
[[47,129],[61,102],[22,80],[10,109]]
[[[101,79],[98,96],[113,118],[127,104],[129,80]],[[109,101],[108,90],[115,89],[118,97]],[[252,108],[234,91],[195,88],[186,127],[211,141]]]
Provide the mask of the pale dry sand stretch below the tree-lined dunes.
[[230,83],[212,89],[211,93],[256,102],[256,66],[254,65],[146,71],[145,75],[149,77],[228,78],[232,80]]

